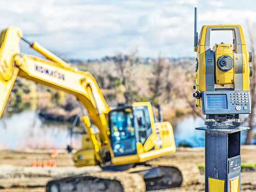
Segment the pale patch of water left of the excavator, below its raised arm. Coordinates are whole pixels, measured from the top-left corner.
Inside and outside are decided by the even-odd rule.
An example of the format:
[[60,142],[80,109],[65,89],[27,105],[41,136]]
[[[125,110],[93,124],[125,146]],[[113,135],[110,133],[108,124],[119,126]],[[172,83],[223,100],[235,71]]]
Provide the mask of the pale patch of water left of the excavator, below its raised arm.
[[25,111],[0,119],[0,148],[66,148],[69,124],[43,123],[35,111]]

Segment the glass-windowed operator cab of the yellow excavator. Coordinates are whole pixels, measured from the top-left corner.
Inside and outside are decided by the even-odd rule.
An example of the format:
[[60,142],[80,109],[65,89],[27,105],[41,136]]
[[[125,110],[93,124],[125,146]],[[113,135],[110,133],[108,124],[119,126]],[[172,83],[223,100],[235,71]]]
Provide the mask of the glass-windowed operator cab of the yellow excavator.
[[137,154],[136,143],[144,145],[152,134],[155,121],[152,109],[148,109],[151,107],[149,104],[137,102],[134,106],[119,106],[109,113],[111,146],[115,157]]

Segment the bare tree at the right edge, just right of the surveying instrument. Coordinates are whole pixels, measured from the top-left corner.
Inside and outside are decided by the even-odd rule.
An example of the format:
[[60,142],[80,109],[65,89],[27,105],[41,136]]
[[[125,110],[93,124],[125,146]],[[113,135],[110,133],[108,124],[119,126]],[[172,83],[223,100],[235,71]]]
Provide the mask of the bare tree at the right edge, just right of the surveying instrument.
[[253,69],[252,78],[250,78],[250,98],[251,98],[251,113],[249,114],[247,120],[250,130],[247,131],[245,144],[250,144],[252,136],[253,136],[253,129],[255,127],[255,107],[256,107],[256,62],[255,62],[255,46],[256,46],[256,25],[249,24],[248,20],[246,21],[248,34],[250,39],[250,51],[252,53],[252,62],[251,66]]

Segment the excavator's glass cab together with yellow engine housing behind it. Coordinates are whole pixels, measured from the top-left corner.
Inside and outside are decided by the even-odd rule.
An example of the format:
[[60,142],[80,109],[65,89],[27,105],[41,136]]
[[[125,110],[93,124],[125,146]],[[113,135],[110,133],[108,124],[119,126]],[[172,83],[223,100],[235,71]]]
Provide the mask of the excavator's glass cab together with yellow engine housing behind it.
[[139,163],[176,151],[172,125],[155,122],[150,102],[112,108],[108,119],[114,165]]

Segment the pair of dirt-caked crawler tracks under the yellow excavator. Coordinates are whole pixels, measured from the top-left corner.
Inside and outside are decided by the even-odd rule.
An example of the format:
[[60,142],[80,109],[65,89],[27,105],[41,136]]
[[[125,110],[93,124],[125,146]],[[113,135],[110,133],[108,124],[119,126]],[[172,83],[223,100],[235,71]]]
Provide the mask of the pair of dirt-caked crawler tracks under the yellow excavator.
[[47,192],[123,191],[144,192],[160,190],[199,181],[199,170],[194,163],[156,159],[124,172],[95,172],[55,179],[46,185]]

